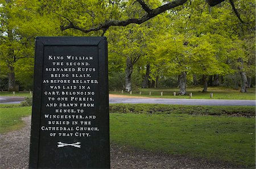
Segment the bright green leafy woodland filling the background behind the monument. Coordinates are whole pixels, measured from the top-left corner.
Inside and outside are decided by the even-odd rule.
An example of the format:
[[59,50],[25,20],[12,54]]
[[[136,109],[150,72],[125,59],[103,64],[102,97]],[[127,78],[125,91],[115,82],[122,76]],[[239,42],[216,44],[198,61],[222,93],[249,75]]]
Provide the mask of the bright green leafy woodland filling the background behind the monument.
[[208,2],[0,0],[0,89],[32,90],[36,36],[106,36],[110,90],[246,92],[255,87],[255,1]]

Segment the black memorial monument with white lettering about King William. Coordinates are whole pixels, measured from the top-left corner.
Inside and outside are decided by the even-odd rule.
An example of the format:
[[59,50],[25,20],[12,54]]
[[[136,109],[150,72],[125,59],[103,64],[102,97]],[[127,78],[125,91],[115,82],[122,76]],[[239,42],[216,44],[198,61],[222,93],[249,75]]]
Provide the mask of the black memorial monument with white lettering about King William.
[[29,168],[110,168],[105,37],[37,37]]

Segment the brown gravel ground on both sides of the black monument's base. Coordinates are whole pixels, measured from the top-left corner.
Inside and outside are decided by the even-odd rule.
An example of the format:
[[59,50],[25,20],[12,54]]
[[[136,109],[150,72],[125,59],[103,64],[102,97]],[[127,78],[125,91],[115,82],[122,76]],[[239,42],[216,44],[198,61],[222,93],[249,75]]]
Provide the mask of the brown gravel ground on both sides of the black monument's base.
[[[31,117],[23,118],[23,129],[0,134],[0,168],[28,168]],[[229,164],[207,162],[204,159],[174,156],[130,149],[112,143],[111,168],[235,168]]]

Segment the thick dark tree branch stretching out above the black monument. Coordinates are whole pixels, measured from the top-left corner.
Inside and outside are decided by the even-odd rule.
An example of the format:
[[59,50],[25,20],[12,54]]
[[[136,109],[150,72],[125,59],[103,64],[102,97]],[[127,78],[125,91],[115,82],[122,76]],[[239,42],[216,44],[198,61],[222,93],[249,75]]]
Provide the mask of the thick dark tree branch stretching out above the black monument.
[[[142,24],[144,22],[146,22],[147,20],[154,18],[156,15],[161,14],[164,11],[173,9],[174,7],[183,5],[185,2],[187,2],[188,0],[174,0],[172,2],[169,2],[165,5],[162,5],[156,9],[151,10],[146,3],[144,3],[144,1],[142,0],[138,0],[138,2],[142,5],[142,8],[147,12],[146,15],[142,16],[141,18],[131,18],[131,19],[127,19],[127,20],[108,20],[102,24],[100,24],[100,26],[98,27],[93,27],[93,28],[89,28],[89,29],[84,29],[84,28],[80,28],[78,26],[75,26],[71,20],[69,21],[69,24],[67,26],[61,26],[61,30],[64,31],[66,29],[77,29],[79,31],[82,31],[84,33],[88,33],[88,32],[92,32],[92,31],[99,31],[101,29],[108,29],[111,26],[127,26],[131,23],[135,23],[135,24]],[[67,19],[67,18],[66,18]]]

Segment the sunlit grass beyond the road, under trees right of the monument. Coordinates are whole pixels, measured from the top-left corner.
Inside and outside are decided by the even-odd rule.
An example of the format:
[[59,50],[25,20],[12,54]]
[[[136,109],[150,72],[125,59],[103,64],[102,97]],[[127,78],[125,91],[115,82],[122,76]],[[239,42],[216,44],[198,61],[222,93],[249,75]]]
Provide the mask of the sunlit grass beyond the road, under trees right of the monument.
[[[211,99],[210,93],[213,93],[212,99],[236,99],[236,100],[255,100],[255,88],[247,88],[248,92],[241,93],[240,90],[234,90],[232,88],[224,87],[208,87],[208,92],[201,92],[203,88],[201,87],[188,87],[187,94],[193,94],[192,99]],[[139,95],[141,91],[141,95]],[[149,92],[151,91],[151,96]],[[163,91],[163,96],[160,95],[160,92]],[[185,96],[174,96],[173,93],[179,92],[179,88],[141,88],[137,91],[133,91],[131,96],[146,96],[153,98],[171,98],[171,99],[189,99],[188,95]],[[110,91],[110,94],[120,94],[121,91]],[[124,92],[122,95],[130,95],[127,92]]]

